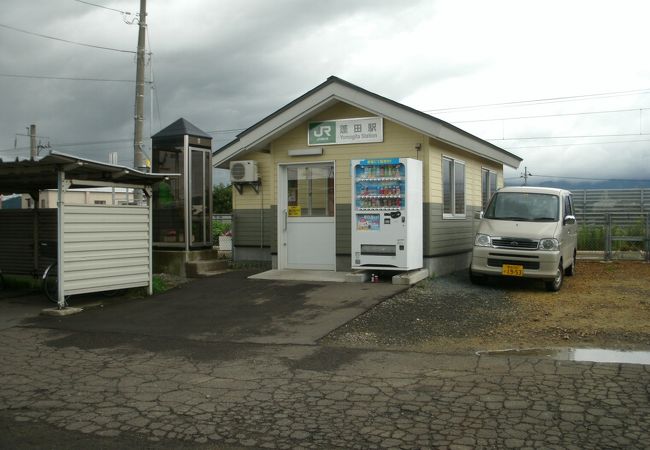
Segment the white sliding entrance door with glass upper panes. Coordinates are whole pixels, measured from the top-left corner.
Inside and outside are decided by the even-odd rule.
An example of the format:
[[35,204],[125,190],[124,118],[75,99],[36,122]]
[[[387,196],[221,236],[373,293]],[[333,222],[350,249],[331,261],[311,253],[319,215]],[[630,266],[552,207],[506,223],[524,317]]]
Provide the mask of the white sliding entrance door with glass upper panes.
[[279,166],[278,267],[336,270],[334,163]]

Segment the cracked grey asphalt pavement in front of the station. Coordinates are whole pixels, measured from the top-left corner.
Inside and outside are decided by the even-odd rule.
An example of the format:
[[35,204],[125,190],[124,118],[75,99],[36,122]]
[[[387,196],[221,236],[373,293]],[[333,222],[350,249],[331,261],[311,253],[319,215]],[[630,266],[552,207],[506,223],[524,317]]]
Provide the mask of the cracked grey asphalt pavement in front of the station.
[[0,447],[650,442],[649,366],[324,346],[401,288],[244,275],[0,330]]

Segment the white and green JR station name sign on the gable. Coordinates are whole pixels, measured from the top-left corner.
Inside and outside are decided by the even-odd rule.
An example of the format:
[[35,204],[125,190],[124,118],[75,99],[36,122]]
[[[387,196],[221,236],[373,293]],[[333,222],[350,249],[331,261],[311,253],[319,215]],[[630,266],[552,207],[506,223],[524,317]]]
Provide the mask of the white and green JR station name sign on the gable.
[[308,145],[365,144],[384,141],[381,117],[309,122]]

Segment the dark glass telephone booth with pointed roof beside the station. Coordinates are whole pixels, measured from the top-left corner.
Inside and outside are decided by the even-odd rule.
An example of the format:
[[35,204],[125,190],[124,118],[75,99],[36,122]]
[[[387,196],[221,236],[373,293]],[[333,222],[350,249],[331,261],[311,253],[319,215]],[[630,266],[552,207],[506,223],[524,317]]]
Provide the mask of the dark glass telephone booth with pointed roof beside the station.
[[153,247],[212,248],[212,138],[181,118],[151,141],[153,172],[177,175],[154,187]]

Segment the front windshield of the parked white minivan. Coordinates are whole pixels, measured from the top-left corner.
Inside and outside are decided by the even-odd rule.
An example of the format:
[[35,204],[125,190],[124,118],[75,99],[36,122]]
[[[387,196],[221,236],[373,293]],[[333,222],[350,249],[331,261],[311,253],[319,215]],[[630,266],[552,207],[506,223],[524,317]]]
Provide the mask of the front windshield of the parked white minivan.
[[484,217],[495,220],[557,222],[560,199],[553,194],[497,192],[490,200]]

